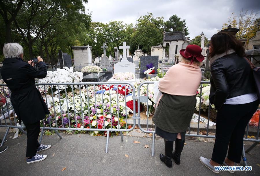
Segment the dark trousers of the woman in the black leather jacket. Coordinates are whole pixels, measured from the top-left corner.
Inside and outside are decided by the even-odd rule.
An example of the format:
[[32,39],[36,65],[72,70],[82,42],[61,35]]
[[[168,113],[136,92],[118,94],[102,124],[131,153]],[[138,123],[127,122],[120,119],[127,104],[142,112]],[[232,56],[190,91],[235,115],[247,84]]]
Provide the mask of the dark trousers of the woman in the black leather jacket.
[[258,100],[240,105],[222,105],[217,114],[216,140],[211,160],[223,164],[227,158],[240,163],[246,126],[258,107]]

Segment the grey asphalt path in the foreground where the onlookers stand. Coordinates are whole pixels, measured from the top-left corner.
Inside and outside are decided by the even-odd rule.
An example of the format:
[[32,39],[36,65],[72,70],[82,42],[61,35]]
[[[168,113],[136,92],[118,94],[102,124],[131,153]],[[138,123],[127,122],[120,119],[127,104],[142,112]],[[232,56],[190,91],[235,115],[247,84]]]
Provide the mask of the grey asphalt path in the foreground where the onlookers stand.
[[[41,152],[48,155],[47,159],[26,164],[26,136],[22,134],[11,139],[9,137],[14,133],[10,133],[5,143],[9,149],[0,154],[0,175],[216,175],[199,161],[199,156],[211,157],[213,142],[186,139],[181,165],[174,163],[173,168],[168,168],[159,159],[159,153],[164,153],[163,139],[155,140],[155,156],[152,157],[151,137],[134,137],[134,133],[132,134],[124,136],[124,141],[121,141],[120,136],[109,138],[108,153],[105,153],[106,138],[103,136],[62,134],[63,139],[59,139],[57,135],[43,136],[42,142],[52,145],[47,151]],[[0,128],[0,137],[3,135],[4,130]],[[133,141],[141,143],[135,144]],[[146,144],[149,148],[144,147]],[[248,144],[251,143],[247,142],[245,148],[249,147]],[[237,171],[235,174],[222,171],[219,175],[259,175],[259,149],[258,145],[247,154],[252,171]]]

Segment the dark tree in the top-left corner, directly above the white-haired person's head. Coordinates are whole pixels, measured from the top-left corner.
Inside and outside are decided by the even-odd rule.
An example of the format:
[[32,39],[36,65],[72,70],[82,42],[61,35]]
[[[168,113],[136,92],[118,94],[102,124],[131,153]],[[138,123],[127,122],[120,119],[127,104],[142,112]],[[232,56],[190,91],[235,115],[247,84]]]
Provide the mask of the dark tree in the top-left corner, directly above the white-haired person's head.
[[11,24],[15,20],[19,10],[23,5],[24,0],[13,1],[0,0],[0,14],[5,22],[5,41],[12,42],[11,38]]

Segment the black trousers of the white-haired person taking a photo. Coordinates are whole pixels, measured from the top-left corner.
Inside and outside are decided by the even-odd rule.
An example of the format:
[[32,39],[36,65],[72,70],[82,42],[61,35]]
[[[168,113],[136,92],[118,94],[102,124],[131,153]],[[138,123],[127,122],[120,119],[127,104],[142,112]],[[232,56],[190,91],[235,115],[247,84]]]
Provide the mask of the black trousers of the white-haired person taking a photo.
[[40,146],[38,142],[40,121],[31,124],[27,123],[25,126],[27,131],[26,157],[33,157],[36,155],[36,150]]

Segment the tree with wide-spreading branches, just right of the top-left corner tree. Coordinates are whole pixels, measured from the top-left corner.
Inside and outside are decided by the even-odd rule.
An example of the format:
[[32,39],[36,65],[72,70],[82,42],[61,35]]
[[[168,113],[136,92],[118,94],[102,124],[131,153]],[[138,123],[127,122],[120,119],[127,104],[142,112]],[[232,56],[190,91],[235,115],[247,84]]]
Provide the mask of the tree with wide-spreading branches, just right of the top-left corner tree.
[[33,43],[40,37],[44,28],[54,28],[64,19],[73,23],[73,20],[85,11],[82,2],[87,0],[26,0],[23,3],[14,23],[23,42],[28,46],[30,58],[34,57]]

